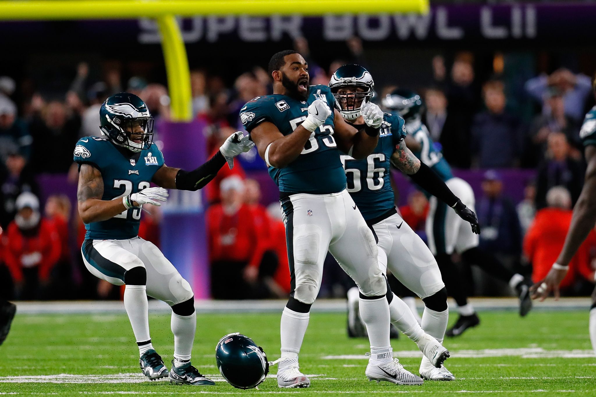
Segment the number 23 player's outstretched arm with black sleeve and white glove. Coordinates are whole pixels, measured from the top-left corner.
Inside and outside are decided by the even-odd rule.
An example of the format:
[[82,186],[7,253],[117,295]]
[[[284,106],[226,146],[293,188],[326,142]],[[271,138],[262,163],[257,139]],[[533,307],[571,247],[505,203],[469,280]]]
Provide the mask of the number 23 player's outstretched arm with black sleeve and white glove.
[[153,175],[152,182],[166,189],[191,191],[202,189],[215,178],[226,161],[228,161],[230,168],[232,168],[234,162],[231,159],[240,153],[249,151],[253,146],[254,143],[250,142],[248,135],[244,136],[240,131],[235,132],[226,139],[221,148],[219,148],[219,151],[212,158],[197,169],[185,171],[180,168],[167,167],[164,164]]

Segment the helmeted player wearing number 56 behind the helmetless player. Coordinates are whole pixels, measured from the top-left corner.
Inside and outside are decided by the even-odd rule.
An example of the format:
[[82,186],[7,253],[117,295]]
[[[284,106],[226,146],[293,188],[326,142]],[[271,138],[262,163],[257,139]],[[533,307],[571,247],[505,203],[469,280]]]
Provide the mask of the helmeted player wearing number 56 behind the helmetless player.
[[[362,107],[373,95],[374,81],[371,74],[359,65],[343,65],[331,76],[331,92],[336,97],[336,106],[347,122],[356,129],[364,127]],[[395,210],[393,189],[390,184],[390,164],[409,174],[415,182],[439,196],[454,208],[454,215],[466,221],[470,232],[478,232],[479,226],[474,212],[465,207],[445,183],[423,162],[421,163],[405,146],[406,130],[402,117],[383,113],[383,123],[378,144],[374,151],[363,159],[342,156],[347,176],[347,190],[354,199],[368,227],[373,231],[378,245],[378,262],[383,273],[387,268],[405,286],[423,299],[426,308],[422,323],[418,324],[412,312],[401,299],[390,290],[387,293],[390,319],[393,325],[418,343],[425,332],[435,343],[442,342],[448,321],[447,292],[433,255],[423,240],[403,223]],[[471,224],[471,227],[470,227]],[[354,317],[356,304],[350,299],[349,318]],[[433,353],[442,355],[440,362],[432,361],[432,354],[424,354],[420,364],[420,376],[429,380],[453,380],[455,377],[442,362],[449,357],[443,346],[433,346]]]

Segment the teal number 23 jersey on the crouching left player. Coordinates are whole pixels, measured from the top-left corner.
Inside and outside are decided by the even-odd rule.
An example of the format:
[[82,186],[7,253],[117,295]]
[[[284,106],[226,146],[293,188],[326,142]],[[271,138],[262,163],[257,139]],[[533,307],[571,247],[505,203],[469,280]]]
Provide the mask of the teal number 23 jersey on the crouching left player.
[[[107,138],[97,136],[79,139],[75,146],[74,160],[79,163],[79,168],[81,164],[91,164],[101,171],[104,180],[102,200],[128,196],[149,187],[153,175],[163,165],[162,152],[156,145],[139,153],[132,153],[119,148]],[[138,235],[140,220],[139,208],[125,210],[111,219],[86,224],[85,239],[132,239]]]

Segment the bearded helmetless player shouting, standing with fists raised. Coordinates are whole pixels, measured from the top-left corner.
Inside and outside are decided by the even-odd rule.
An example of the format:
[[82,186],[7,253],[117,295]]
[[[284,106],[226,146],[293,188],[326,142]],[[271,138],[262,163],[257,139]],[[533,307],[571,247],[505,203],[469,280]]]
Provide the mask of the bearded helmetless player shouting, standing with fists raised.
[[273,95],[254,98],[240,118],[280,188],[287,236],[291,293],[281,315],[280,387],[308,387],[298,355],[309,311],[321,287],[322,266],[330,251],[358,285],[360,312],[367,326],[370,380],[420,385],[423,380],[393,358],[389,341],[386,280],[378,267],[377,245],[346,191],[340,154],[366,158],[377,146],[383,112],[362,107],[365,127],[349,126],[334,109],[329,87],[309,86],[308,64],[295,51],[269,61]]

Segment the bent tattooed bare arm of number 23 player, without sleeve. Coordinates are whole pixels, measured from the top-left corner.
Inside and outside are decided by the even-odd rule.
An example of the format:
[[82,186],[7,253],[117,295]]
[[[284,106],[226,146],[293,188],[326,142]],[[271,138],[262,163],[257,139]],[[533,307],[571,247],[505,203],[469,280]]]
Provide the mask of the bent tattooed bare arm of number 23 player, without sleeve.
[[102,200],[104,180],[91,164],[82,164],[79,172],[77,201],[83,223],[108,220],[126,210],[121,200]]

